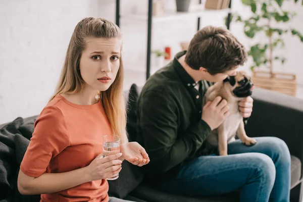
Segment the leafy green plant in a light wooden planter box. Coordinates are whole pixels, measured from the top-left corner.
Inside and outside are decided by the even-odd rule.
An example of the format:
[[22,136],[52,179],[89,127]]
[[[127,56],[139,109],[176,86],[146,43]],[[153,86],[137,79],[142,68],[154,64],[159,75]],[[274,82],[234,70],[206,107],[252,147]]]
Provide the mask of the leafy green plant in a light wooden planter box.
[[[294,0],[295,3],[298,0]],[[296,14],[282,9],[283,0],[242,0],[249,6],[252,15],[248,19],[242,19],[238,14],[233,15],[233,20],[244,25],[244,33],[249,38],[254,38],[257,33],[266,35],[267,41],[252,44],[248,56],[253,59],[250,67],[252,79],[256,86],[267,88],[282,93],[296,94],[296,75],[276,73],[273,70],[273,61],[278,60],[282,64],[286,58],[275,54],[275,50],[285,46],[282,36],[291,33],[303,42],[303,35],[293,28],[281,28],[279,24],[286,23]],[[266,67],[268,71],[260,71],[257,68]]]

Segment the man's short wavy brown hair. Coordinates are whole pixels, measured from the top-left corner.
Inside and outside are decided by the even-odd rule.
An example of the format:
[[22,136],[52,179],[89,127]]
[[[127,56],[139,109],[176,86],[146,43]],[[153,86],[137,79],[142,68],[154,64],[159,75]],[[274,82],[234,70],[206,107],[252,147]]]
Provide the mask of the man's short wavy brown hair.
[[244,46],[223,27],[207,26],[194,35],[185,62],[198,70],[204,67],[212,75],[232,70],[247,61]]

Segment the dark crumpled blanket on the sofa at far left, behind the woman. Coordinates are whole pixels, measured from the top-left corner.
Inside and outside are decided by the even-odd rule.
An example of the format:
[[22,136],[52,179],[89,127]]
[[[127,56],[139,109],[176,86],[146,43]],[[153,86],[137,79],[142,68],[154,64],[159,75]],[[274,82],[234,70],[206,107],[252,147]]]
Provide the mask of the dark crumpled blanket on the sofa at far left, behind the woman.
[[0,129],[0,202],[40,200],[40,195],[21,195],[17,188],[20,164],[34,130],[34,121],[25,123],[19,117]]

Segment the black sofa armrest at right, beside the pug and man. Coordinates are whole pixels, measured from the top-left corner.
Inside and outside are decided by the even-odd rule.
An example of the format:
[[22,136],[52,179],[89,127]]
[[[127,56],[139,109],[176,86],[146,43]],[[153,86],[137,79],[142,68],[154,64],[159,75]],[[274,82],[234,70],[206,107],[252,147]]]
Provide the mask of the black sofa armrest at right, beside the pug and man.
[[[303,99],[256,88],[254,108],[245,130],[248,136],[275,136],[303,162]],[[302,169],[303,171],[303,169]]]

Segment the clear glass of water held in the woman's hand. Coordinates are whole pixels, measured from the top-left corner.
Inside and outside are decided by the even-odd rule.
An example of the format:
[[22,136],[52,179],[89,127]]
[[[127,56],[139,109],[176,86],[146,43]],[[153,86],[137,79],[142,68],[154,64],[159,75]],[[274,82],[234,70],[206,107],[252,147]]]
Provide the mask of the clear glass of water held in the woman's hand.
[[[105,135],[103,137],[103,157],[116,155],[120,153],[121,139],[118,135]],[[107,180],[115,180],[119,177],[119,173]]]

